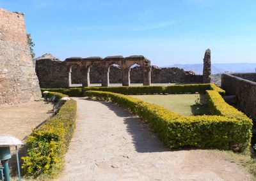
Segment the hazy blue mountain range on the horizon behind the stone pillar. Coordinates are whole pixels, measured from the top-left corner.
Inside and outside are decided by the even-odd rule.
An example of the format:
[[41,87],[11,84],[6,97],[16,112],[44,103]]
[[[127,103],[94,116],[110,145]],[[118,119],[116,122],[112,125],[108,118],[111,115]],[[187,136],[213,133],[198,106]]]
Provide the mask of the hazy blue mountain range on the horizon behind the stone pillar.
[[[196,74],[203,74],[203,64],[173,64],[167,67],[177,67],[186,71],[194,71]],[[230,63],[230,64],[212,64],[212,74],[224,72],[255,72],[256,63]]]

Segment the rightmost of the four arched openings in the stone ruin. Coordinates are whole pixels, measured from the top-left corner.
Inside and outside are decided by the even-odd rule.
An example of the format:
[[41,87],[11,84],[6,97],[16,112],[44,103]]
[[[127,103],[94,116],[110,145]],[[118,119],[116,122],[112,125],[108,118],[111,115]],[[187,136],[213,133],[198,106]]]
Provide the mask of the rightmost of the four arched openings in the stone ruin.
[[143,83],[143,69],[139,64],[132,64],[130,67],[130,82]]

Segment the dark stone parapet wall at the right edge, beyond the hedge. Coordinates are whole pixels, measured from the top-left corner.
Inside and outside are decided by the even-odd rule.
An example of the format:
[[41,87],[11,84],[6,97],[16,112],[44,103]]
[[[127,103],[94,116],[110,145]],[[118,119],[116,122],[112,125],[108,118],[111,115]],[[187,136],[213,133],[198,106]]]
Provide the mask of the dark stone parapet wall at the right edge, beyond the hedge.
[[256,83],[237,75],[256,80],[255,73],[222,74],[221,88],[226,91],[228,96],[236,95],[237,108],[256,120]]

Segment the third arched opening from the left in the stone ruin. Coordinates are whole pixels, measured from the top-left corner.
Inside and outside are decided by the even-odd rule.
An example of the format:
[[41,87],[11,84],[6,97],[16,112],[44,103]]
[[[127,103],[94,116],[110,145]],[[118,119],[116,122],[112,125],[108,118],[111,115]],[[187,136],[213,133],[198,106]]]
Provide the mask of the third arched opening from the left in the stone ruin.
[[111,86],[122,85],[122,69],[118,64],[111,64],[108,68],[109,83]]

